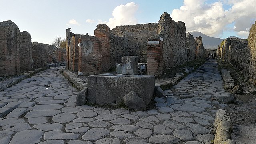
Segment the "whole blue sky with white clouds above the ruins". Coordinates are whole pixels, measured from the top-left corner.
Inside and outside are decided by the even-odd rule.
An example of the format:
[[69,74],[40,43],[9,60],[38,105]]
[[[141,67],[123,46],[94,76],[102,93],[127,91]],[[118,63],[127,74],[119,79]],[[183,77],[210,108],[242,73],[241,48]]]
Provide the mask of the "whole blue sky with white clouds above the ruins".
[[0,22],[12,20],[32,42],[51,44],[66,28],[94,36],[97,24],[154,23],[167,12],[186,31],[212,37],[248,38],[256,18],[256,0],[0,0]]

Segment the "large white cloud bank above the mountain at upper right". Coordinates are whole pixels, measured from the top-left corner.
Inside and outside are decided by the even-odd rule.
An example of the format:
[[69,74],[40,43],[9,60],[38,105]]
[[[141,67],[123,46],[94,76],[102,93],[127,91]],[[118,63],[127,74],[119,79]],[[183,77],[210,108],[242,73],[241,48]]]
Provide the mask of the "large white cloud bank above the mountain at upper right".
[[[223,4],[230,8],[224,10]],[[256,0],[219,0],[212,4],[207,0],[184,0],[184,5],[174,9],[171,16],[175,21],[185,22],[188,32],[198,30],[214,37],[222,35],[226,25],[234,23],[237,35],[247,38],[255,21],[255,7]]]

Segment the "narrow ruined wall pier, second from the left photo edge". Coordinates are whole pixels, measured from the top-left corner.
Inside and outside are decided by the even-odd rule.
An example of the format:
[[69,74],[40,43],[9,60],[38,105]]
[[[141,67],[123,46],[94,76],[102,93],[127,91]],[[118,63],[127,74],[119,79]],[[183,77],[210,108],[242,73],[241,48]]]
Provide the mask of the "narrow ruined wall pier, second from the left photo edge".
[[20,36],[20,71],[30,71],[33,68],[31,35],[23,31]]

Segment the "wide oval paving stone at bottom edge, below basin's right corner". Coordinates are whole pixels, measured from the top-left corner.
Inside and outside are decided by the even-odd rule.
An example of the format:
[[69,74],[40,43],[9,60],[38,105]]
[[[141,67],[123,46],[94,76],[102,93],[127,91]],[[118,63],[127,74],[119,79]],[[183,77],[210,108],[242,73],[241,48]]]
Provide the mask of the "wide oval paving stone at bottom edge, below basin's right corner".
[[154,143],[173,144],[180,140],[175,136],[171,136],[171,135],[157,135],[157,136],[151,136],[148,141],[154,142]]

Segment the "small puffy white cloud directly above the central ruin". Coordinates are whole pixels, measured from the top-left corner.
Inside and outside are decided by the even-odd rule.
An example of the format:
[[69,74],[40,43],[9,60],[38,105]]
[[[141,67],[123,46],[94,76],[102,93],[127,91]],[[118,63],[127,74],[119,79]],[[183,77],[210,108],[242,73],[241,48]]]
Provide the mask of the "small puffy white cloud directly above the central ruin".
[[134,2],[127,3],[126,5],[120,5],[114,8],[112,12],[113,18],[107,21],[99,20],[98,24],[106,24],[112,28],[120,25],[134,25],[137,24],[135,13],[138,10],[138,5]]

